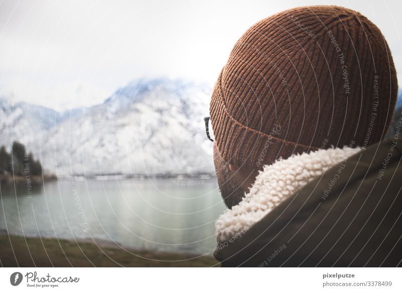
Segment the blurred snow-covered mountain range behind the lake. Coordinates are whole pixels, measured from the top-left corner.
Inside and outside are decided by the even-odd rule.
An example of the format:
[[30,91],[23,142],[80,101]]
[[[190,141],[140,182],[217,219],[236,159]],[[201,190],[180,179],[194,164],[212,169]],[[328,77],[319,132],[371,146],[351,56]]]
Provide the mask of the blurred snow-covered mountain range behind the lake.
[[210,93],[181,79],[141,79],[103,104],[61,113],[0,98],[0,144],[27,144],[60,177],[213,173],[203,122]]

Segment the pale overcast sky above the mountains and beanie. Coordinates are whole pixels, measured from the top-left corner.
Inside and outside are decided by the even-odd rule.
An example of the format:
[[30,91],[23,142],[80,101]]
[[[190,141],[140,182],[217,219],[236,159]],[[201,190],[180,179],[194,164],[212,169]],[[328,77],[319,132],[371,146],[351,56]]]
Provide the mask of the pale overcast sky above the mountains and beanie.
[[139,77],[212,85],[251,25],[316,4],[348,7],[375,23],[402,84],[400,1],[0,0],[0,96],[61,110],[102,102]]

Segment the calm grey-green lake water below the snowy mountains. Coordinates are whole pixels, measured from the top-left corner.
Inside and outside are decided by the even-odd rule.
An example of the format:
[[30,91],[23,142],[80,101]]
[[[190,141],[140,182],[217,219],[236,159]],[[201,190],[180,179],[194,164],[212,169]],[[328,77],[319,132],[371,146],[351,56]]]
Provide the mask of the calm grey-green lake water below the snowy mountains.
[[1,186],[0,228],[28,237],[117,242],[136,249],[211,253],[225,210],[215,178],[71,180]]

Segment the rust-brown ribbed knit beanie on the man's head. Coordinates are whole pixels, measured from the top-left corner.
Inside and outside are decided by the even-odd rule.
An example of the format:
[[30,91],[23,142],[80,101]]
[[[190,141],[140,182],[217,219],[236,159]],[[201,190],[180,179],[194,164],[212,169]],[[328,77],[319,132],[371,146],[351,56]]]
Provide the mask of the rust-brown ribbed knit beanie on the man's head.
[[261,169],[296,153],[378,142],[396,94],[391,53],[373,23],[342,7],[299,7],[240,38],[210,114],[222,158]]

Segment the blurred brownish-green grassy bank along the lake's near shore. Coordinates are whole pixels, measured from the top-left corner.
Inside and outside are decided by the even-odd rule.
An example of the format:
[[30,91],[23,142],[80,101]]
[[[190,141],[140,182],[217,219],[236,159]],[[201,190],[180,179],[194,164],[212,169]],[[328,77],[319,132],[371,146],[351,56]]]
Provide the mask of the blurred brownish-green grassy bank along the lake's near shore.
[[124,250],[94,242],[0,235],[0,265],[4,267],[207,267],[211,256]]

